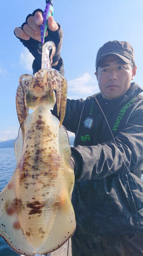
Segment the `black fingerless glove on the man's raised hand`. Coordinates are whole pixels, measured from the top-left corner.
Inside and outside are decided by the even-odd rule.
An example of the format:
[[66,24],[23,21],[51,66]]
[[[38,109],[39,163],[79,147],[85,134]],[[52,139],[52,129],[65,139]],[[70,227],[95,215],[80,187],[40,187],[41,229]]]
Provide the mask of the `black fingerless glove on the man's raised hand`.
[[[24,22],[21,26],[21,28],[23,29],[23,26],[25,24],[27,24],[27,19],[30,17],[30,16],[34,16],[35,12],[37,11],[40,11],[40,12],[43,12],[41,9],[37,9],[35,10],[32,14],[29,14],[27,17],[26,17],[26,22]],[[58,24],[58,23],[57,23]],[[63,41],[63,30],[61,28],[61,26],[58,24],[58,30],[57,31],[51,31],[49,28],[47,28],[48,30],[48,35],[44,38],[44,43],[48,42],[48,41],[53,41],[55,43],[55,46],[56,46],[56,52],[55,52],[55,55],[53,56],[53,63],[56,63],[59,59],[60,59],[60,52],[61,52],[61,48],[62,48],[62,41]],[[15,33],[14,33],[15,34]],[[41,61],[42,61],[42,55],[38,53],[38,44],[40,43],[39,41],[33,39],[30,37],[29,40],[24,40],[24,39],[21,39],[19,37],[17,37],[20,42],[23,43],[23,45],[25,47],[27,47],[27,49],[31,52],[31,54],[34,56],[35,60],[33,62],[33,66],[37,66],[37,71],[39,69],[41,69]],[[32,66],[32,67],[33,67]],[[34,67],[33,67],[34,69]],[[37,72],[37,71],[34,71]]]

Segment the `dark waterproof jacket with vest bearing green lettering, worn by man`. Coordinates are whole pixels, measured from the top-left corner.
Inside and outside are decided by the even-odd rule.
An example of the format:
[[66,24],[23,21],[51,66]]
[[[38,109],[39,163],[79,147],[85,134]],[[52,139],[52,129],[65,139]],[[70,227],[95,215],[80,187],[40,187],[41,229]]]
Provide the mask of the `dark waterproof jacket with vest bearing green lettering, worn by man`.
[[[119,99],[95,95],[109,126],[94,95],[67,99],[63,125],[76,134],[71,151],[78,159],[72,204],[78,225],[86,231],[113,236],[143,232],[143,182],[138,177],[143,169],[141,92],[132,83]],[[56,106],[52,113],[57,116]]]

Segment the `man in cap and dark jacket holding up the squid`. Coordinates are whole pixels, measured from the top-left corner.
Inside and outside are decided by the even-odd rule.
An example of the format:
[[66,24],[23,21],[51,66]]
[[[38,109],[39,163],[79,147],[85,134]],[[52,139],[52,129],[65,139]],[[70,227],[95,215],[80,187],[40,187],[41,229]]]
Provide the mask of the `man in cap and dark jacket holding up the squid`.
[[[34,72],[40,69],[36,50],[41,23],[42,12],[36,10],[23,30],[15,29],[36,58]],[[53,67],[63,74],[61,27],[52,17],[48,27],[50,40],[58,38]],[[100,93],[86,100],[67,99],[63,125],[76,134],[71,148],[77,222],[72,256],[143,255],[143,97],[140,86],[131,83],[136,68],[132,46],[110,41],[96,58]]]

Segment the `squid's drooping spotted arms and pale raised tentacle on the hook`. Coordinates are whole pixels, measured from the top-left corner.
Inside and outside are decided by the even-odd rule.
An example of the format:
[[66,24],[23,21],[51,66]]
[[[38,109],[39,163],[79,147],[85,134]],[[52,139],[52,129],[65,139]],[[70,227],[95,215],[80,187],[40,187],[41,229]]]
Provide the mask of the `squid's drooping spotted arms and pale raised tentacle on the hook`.
[[[51,52],[51,61],[49,58],[50,50]],[[47,42],[43,46],[43,53],[42,53],[42,69],[43,72],[46,71],[46,77],[47,77],[47,86],[49,89],[50,97],[53,95],[53,89],[57,90],[56,92],[56,98],[57,98],[57,113],[59,115],[60,112],[60,126],[64,120],[65,116],[65,106],[66,106],[66,96],[67,96],[67,81],[65,77],[63,77],[57,70],[51,68],[52,63],[52,57],[55,54],[55,44],[51,41]],[[41,72],[38,71],[35,74],[35,77],[37,78],[36,82],[38,81],[38,78],[41,78]],[[32,76],[28,74],[24,74],[20,76],[19,83],[20,85],[17,88],[17,94],[16,94],[16,107],[17,107],[17,115],[18,120],[22,129],[22,132],[24,134],[24,120],[29,115],[29,108],[26,103],[26,94],[28,91],[33,91],[34,88],[31,88],[31,79]]]

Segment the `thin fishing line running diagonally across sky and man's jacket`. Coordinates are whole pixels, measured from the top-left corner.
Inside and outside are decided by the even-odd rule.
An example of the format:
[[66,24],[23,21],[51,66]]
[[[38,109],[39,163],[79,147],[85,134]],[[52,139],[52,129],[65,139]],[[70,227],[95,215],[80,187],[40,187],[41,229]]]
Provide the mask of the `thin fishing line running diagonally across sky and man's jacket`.
[[[61,11],[62,11],[62,13],[63,13],[64,19],[65,19],[66,25],[67,25],[67,27],[68,27],[69,34],[70,34],[70,36],[71,36],[71,38],[72,38],[72,40],[73,40],[74,46],[77,47],[77,44],[76,44],[76,42],[75,42],[73,36],[71,35],[70,27],[69,27],[68,22],[67,22],[67,19],[66,19],[66,17],[65,17],[65,13],[64,13],[64,11],[63,11],[63,8],[62,8],[62,6],[59,4],[59,2],[57,2],[57,3],[58,3],[58,5],[60,6]],[[83,61],[83,63],[85,63],[84,60],[83,60],[83,58],[82,58],[82,61]],[[89,74],[89,73],[87,72],[87,69],[86,69],[85,64],[84,64],[84,67],[85,67],[86,74]],[[95,95],[94,95],[94,97],[95,97]],[[109,127],[109,129],[110,129],[110,132],[111,132],[111,134],[112,134],[112,130],[111,130],[110,125],[109,125],[109,123],[108,123],[108,121],[107,121],[107,119],[106,119],[106,116],[105,116],[105,114],[104,114],[104,112],[103,112],[103,110],[102,110],[102,108],[101,108],[101,106],[100,106],[100,104],[99,104],[99,102],[98,102],[98,100],[97,100],[96,97],[95,97],[95,99],[96,99],[96,101],[97,101],[97,103],[98,103],[98,105],[99,105],[99,107],[100,107],[100,109],[101,109],[101,111],[102,111],[102,113],[103,113],[103,115],[104,115],[104,117],[105,117],[105,120],[106,120],[106,122],[107,122],[107,125],[108,125],[108,127]],[[118,149],[118,151],[119,151],[119,154],[120,154],[120,156],[121,156],[121,158],[122,158],[122,160],[123,160],[123,162],[124,162],[124,164],[125,164],[127,170],[130,172],[129,168],[127,167],[127,165],[126,165],[126,163],[125,163],[125,160],[123,159],[123,157],[122,157],[122,155],[121,155],[121,153],[120,153],[120,150],[119,150],[118,145],[117,145],[117,143],[116,143],[116,141],[115,141],[115,139],[114,139],[113,134],[112,134],[112,137],[113,137],[114,143],[115,143],[115,145],[116,145],[116,147],[117,147],[117,149]],[[131,172],[130,172],[130,173],[131,173]],[[131,175],[132,175],[132,173],[131,173]],[[132,178],[133,178],[133,175],[132,175]],[[138,190],[140,191],[140,189],[139,189],[139,187],[138,187],[138,184],[136,183],[136,181],[134,180],[134,178],[133,178],[133,181],[135,182],[135,184],[136,184]],[[140,191],[140,194],[141,194],[141,191]],[[142,194],[141,194],[141,197],[143,197]]]

